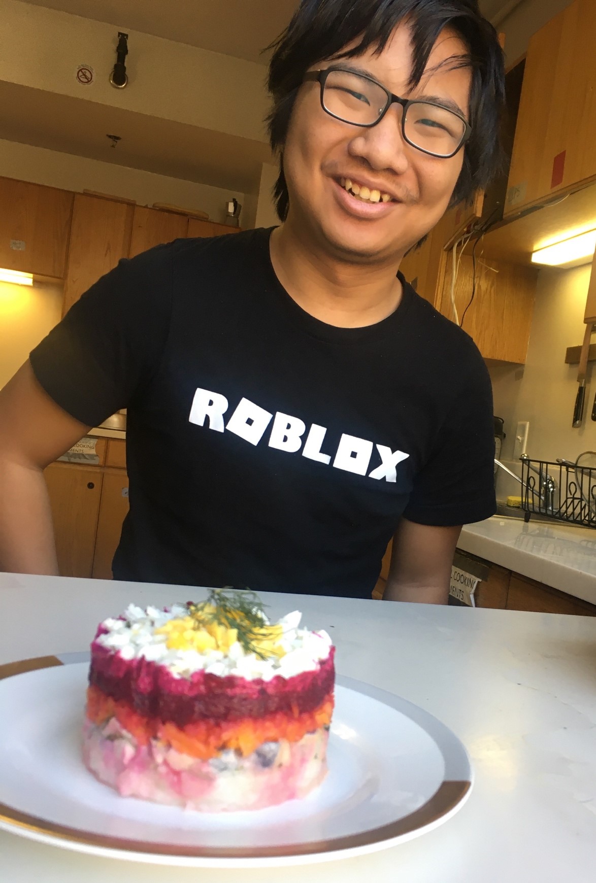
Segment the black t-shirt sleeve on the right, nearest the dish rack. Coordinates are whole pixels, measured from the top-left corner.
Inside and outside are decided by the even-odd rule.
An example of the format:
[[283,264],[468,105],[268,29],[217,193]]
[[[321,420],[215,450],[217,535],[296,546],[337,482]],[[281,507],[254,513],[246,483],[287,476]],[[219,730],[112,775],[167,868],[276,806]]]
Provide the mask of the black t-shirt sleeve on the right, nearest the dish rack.
[[465,381],[414,480],[404,517],[447,527],[483,521],[495,510],[493,391],[474,346]]

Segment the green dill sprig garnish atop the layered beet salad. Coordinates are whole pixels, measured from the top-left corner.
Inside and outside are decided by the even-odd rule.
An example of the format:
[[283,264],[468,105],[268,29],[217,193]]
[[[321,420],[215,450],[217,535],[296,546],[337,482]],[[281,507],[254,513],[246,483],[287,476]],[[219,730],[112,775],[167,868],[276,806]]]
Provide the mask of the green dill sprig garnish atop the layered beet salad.
[[186,608],[196,629],[213,624],[236,629],[238,643],[245,653],[254,653],[261,660],[275,656],[275,653],[264,652],[255,643],[263,637],[263,630],[268,624],[265,606],[256,592],[226,585],[223,589],[212,589],[207,600],[197,604],[188,601]]

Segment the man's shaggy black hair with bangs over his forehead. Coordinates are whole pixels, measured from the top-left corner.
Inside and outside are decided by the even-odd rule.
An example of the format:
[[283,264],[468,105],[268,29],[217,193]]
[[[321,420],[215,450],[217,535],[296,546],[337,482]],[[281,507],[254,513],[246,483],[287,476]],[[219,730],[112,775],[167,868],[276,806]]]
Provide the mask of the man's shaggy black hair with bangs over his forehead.
[[[396,26],[411,23],[413,65],[410,86],[418,86],[434,43],[446,26],[463,39],[468,55],[457,59],[472,68],[470,125],[464,166],[450,205],[470,202],[502,170],[499,120],[505,96],[503,52],[494,27],[479,11],[478,0],[302,0],[290,24],[269,49],[268,90],[273,108],[267,118],[269,143],[279,154],[275,207],[284,221],[289,208],[283,175],[283,144],[298,88],[306,71],[329,58],[350,58],[370,46],[385,48]],[[353,49],[344,49],[358,41]]]

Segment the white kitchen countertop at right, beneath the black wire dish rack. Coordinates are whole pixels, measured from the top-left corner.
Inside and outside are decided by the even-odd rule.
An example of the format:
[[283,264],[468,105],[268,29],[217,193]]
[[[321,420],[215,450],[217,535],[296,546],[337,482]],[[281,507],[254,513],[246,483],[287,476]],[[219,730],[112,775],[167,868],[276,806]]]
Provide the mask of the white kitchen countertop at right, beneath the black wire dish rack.
[[465,525],[457,547],[596,604],[596,531],[498,515]]

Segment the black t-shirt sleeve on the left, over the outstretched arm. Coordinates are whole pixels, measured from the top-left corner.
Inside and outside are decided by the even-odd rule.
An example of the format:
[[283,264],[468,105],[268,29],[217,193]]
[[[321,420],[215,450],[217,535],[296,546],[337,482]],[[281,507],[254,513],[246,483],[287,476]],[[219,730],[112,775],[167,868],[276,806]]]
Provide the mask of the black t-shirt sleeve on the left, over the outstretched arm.
[[86,426],[127,407],[160,364],[171,298],[170,245],[121,260],[31,352],[41,388]]

